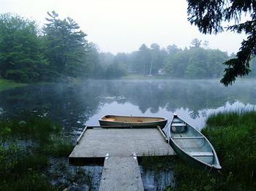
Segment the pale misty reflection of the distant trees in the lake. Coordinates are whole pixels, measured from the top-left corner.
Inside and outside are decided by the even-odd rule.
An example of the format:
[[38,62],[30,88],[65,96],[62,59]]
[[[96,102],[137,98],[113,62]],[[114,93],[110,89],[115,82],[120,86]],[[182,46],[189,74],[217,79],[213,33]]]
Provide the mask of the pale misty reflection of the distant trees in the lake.
[[[139,106],[141,112],[150,109],[156,113],[159,107],[174,112],[181,107],[189,109],[193,117],[198,117],[202,109],[215,109],[227,101],[236,100],[244,104],[255,104],[254,85],[251,82],[238,82],[233,87],[223,87],[217,81],[115,81],[106,82],[106,95],[125,97],[122,100]],[[120,103],[118,101],[118,103]]]

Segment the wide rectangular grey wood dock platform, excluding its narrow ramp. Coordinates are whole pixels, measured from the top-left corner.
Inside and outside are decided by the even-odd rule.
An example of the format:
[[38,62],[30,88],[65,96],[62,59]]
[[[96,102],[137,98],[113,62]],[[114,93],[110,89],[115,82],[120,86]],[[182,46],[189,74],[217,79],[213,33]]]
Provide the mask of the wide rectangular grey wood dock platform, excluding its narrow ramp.
[[104,159],[106,153],[113,157],[176,155],[157,128],[105,129],[87,128],[69,159]]

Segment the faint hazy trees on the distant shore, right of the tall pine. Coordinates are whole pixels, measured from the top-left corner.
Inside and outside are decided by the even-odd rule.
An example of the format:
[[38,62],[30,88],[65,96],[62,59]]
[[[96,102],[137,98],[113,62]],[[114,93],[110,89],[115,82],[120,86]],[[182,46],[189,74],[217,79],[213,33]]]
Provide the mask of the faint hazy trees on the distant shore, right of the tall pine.
[[178,49],[175,44],[160,49],[156,43],[147,47],[142,44],[138,51],[130,54],[112,55],[101,53],[100,64],[106,67],[103,77],[121,77],[135,74],[144,77],[162,75],[172,78],[206,79],[221,77],[228,59],[227,52],[208,49],[207,42],[201,46],[201,40],[193,39],[192,47]]

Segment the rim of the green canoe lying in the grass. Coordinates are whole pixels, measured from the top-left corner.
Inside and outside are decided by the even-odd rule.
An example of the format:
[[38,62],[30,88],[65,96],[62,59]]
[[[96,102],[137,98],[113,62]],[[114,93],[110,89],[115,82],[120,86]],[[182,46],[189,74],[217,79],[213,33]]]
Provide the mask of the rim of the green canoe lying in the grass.
[[[173,119],[174,119],[174,117],[178,117],[178,115],[176,115],[176,116],[173,115]],[[173,119],[171,120],[170,125],[173,123]],[[183,121],[183,122],[185,122],[185,121],[182,120],[180,117],[178,117],[178,119],[181,120],[181,121]],[[186,123],[187,125],[189,125],[189,123],[187,123],[187,122],[185,122],[185,123]],[[190,128],[193,128],[192,125],[189,125],[189,127],[190,127]],[[197,133],[200,133],[200,131],[197,130],[196,128],[193,128],[193,129],[195,129],[195,130],[197,131]],[[219,164],[219,159],[218,159],[218,157],[217,157],[217,152],[215,151],[215,149],[214,149],[214,147],[212,146],[211,142],[208,141],[208,139],[206,138],[206,136],[203,135],[203,133],[200,133],[200,135],[203,136],[204,139],[206,139],[206,141],[208,142],[208,144],[210,145],[210,147],[211,147],[211,149],[212,149],[212,152],[214,152],[214,159],[216,160],[217,165],[210,165],[210,164],[205,163],[205,162],[203,162],[203,161],[201,161],[201,160],[198,160],[196,157],[193,157],[192,155],[189,155],[189,152],[187,152],[187,151],[185,151],[184,149],[182,149],[182,148],[176,143],[176,141],[174,141],[174,139],[173,139],[172,136],[171,136],[171,133],[170,133],[170,139],[171,139],[171,141],[173,142],[173,144],[175,144],[176,147],[178,147],[178,149],[180,149],[182,152],[184,152],[184,154],[186,154],[187,156],[192,157],[192,159],[197,160],[199,163],[203,163],[204,165],[207,165],[207,166],[210,167],[210,168],[216,168],[216,169],[218,169],[218,170],[221,169],[222,167],[221,167],[221,165]]]

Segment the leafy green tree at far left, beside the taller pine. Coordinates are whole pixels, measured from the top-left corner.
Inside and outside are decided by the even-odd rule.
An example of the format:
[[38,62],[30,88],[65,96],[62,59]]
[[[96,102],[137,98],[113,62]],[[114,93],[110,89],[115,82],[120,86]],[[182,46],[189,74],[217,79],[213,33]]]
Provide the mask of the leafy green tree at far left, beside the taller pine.
[[39,67],[47,64],[34,21],[0,15],[0,76],[17,82],[39,80]]

